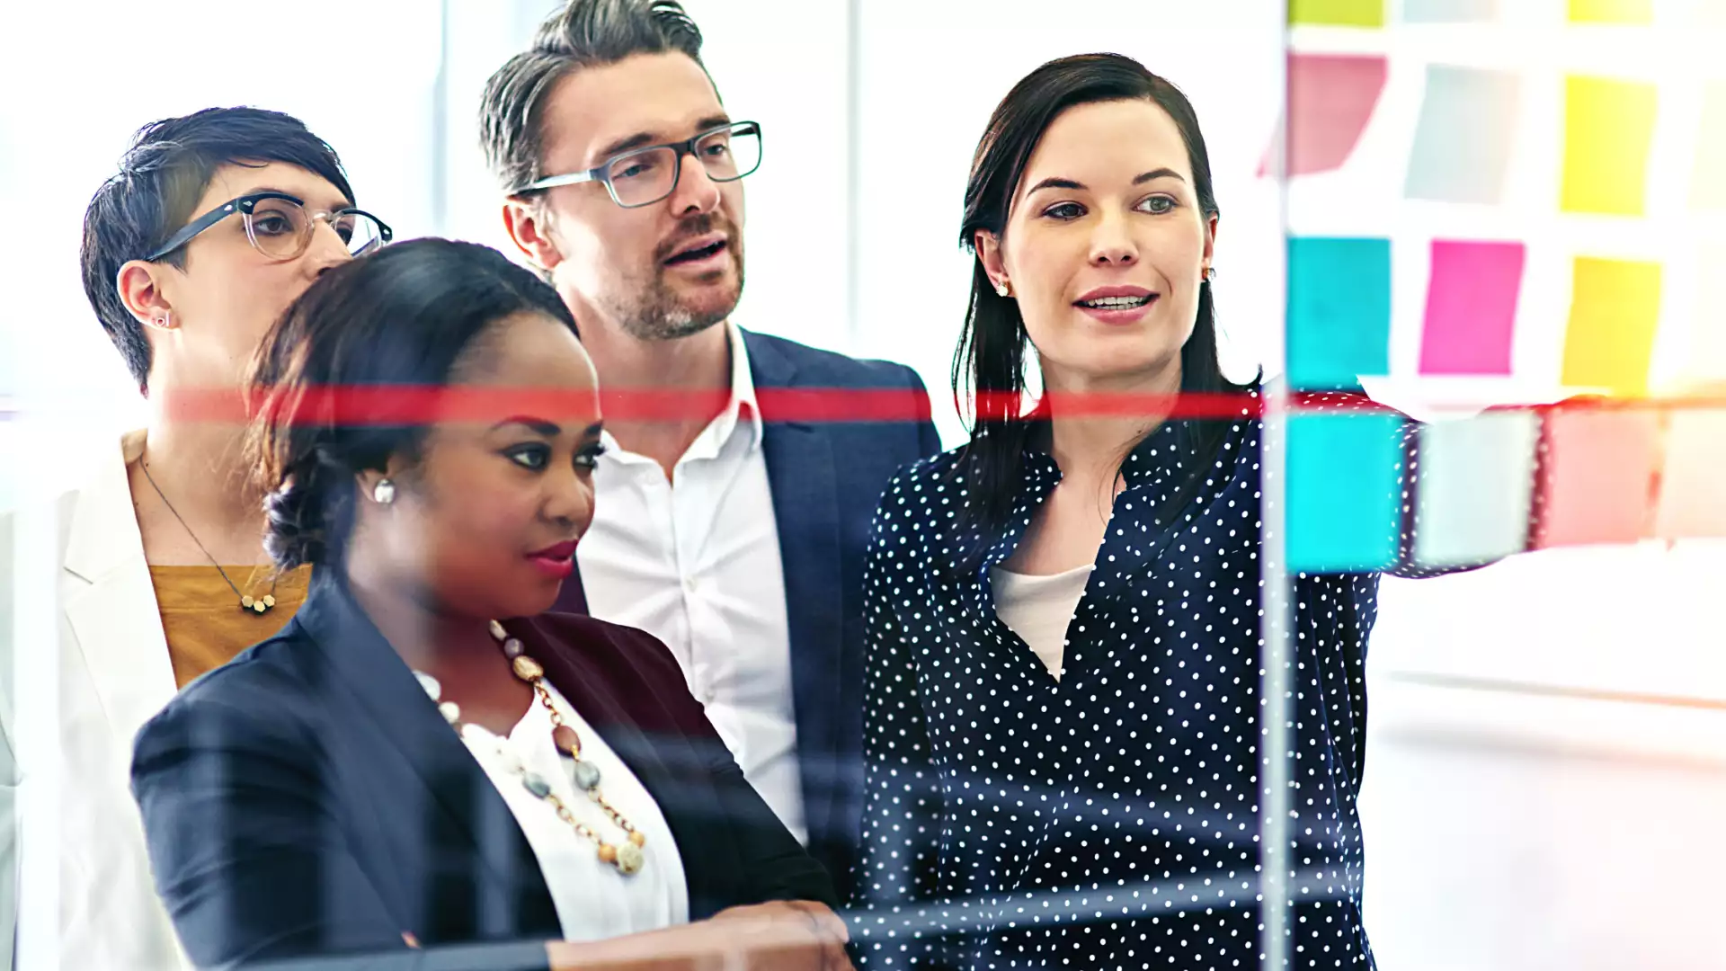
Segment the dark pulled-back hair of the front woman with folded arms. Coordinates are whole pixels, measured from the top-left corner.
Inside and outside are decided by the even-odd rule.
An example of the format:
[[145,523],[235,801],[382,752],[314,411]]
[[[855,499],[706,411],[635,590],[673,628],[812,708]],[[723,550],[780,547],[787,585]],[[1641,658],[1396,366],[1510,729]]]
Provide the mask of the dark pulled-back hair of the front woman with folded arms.
[[[337,411],[342,389],[449,384],[497,321],[540,313],[575,330],[563,299],[495,249],[423,238],[326,271],[264,339],[247,382],[261,403],[249,447],[269,494],[264,548],[276,567],[340,563],[361,472],[418,454],[425,422]],[[425,401],[425,394],[413,396]]]

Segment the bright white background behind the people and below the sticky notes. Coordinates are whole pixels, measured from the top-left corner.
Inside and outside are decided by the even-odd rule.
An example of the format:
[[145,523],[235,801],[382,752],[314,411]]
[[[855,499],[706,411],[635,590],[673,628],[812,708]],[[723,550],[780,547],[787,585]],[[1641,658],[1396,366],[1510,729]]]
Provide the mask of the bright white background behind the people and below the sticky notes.
[[[0,422],[0,508],[74,482],[72,442],[140,420],[76,264],[83,207],[133,130],[209,105],[281,109],[340,150],[361,204],[399,238],[504,247],[475,105],[549,7],[98,0],[0,12],[0,408],[35,409]],[[766,131],[747,181],[746,327],[917,366],[956,444],[948,366],[970,276],[956,232],[975,140],[1029,69],[1118,50],[1181,85],[1205,124],[1231,370],[1279,359],[1282,197],[1257,178],[1281,100],[1277,3],[687,7],[727,107]],[[1381,128],[1412,124],[1405,111],[1389,105]],[[1726,555],[1704,543],[1384,582],[1362,800],[1383,968],[1726,966],[1723,589]]]

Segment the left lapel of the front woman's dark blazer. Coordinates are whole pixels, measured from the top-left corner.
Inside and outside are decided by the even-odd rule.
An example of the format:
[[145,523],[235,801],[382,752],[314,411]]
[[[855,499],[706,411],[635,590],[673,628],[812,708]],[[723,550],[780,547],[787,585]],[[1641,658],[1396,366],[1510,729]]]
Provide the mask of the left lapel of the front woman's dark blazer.
[[[425,781],[442,810],[414,821],[425,828],[425,845],[457,850],[445,859],[463,859],[461,850],[471,848],[471,859],[480,860],[468,873],[428,874],[433,881],[426,886],[428,907],[438,914],[475,914],[480,936],[559,933],[551,890],[509,803],[347,587],[328,579],[328,572],[323,575],[326,579],[314,581],[293,624],[311,634],[328,660],[337,682],[331,693],[347,695],[364,710]],[[463,898],[468,888],[476,892],[485,883],[497,893]]]

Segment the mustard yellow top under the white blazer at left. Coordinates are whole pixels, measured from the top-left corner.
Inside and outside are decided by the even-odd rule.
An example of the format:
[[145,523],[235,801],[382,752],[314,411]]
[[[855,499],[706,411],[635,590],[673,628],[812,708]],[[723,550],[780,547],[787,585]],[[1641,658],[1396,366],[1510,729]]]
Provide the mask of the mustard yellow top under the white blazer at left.
[[[271,593],[269,567],[226,567],[242,593],[262,598]],[[205,670],[214,670],[252,644],[274,636],[306,603],[311,567],[287,572],[274,582],[276,606],[264,613],[240,606],[240,598],[216,567],[150,567],[155,606],[162,612],[167,657],[174,684],[185,688]]]

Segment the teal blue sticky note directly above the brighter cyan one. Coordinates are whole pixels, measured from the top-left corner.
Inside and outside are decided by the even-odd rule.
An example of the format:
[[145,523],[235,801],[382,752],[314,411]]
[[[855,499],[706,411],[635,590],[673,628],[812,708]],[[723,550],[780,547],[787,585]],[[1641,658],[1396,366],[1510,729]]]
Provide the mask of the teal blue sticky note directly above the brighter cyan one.
[[1341,390],[1391,370],[1391,240],[1289,237],[1288,382]]

